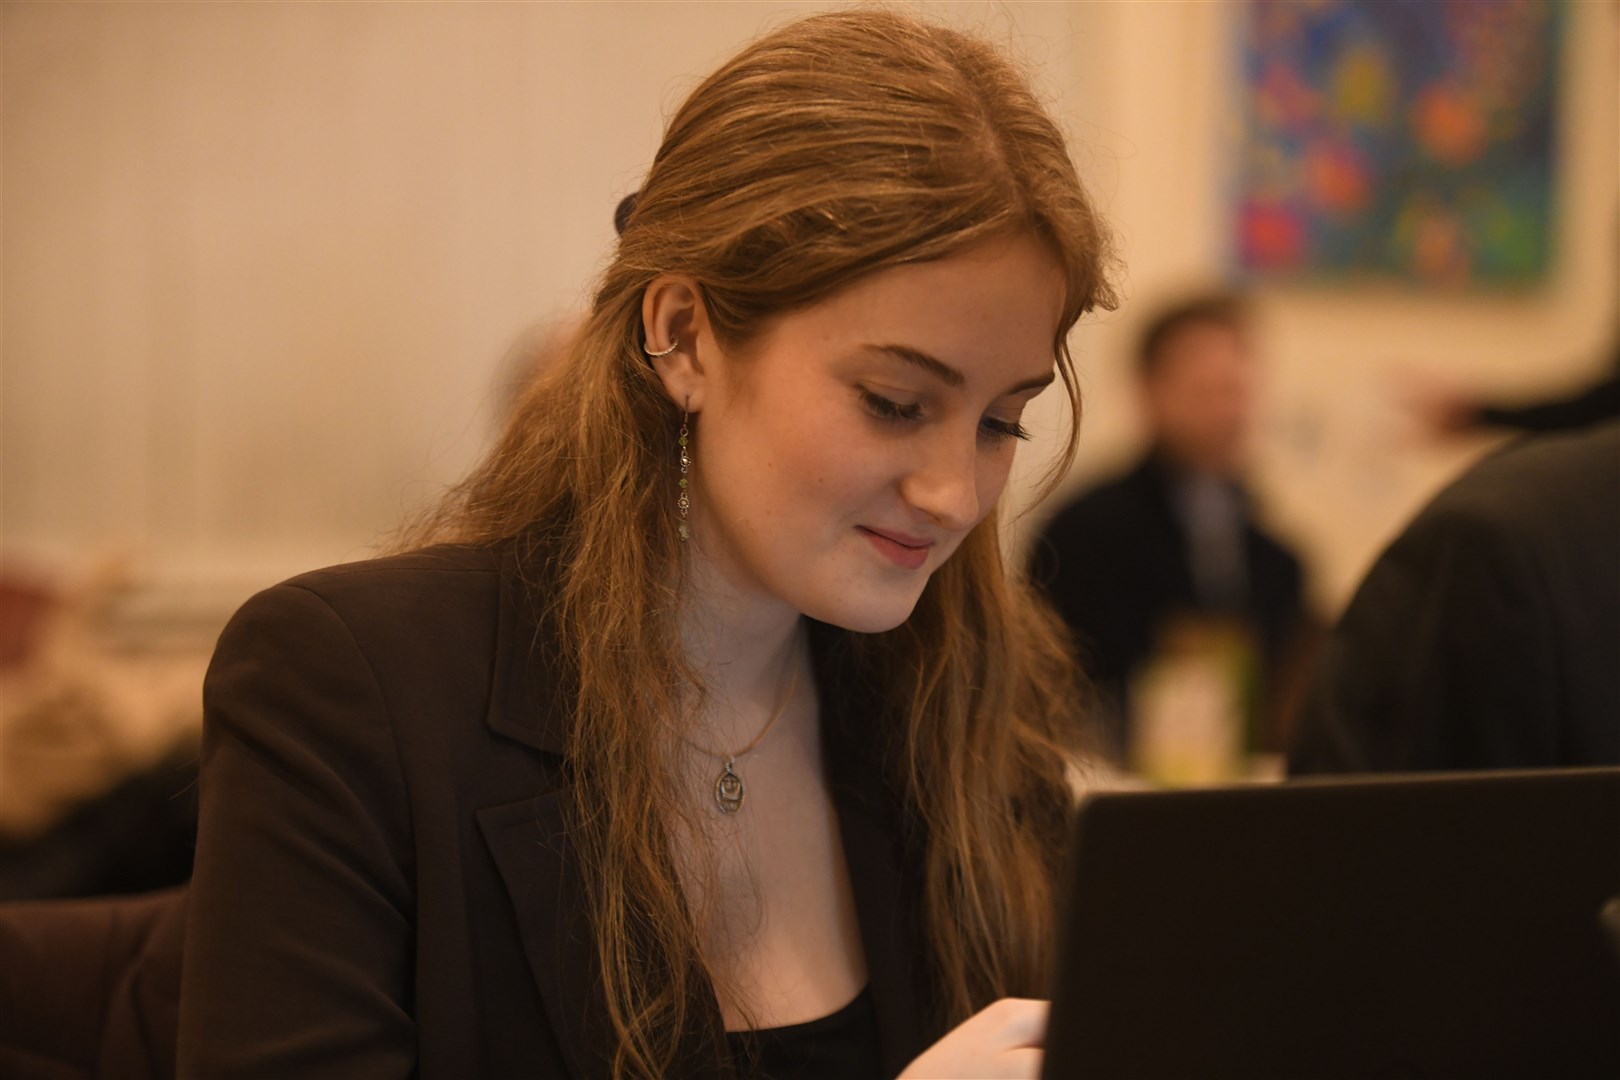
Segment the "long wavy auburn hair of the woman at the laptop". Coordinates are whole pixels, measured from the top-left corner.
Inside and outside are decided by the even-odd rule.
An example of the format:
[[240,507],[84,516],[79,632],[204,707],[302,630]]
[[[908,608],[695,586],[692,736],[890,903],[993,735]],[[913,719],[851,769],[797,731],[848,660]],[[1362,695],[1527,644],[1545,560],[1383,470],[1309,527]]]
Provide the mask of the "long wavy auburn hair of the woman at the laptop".
[[[784,26],[671,120],[573,345],[483,465],[405,534],[523,544],[559,648],[548,659],[573,693],[572,824],[619,1038],[614,1075],[676,1065],[710,978],[703,913],[674,850],[682,823],[701,834],[674,769],[703,693],[679,644],[682,415],[642,353],[642,295],[661,274],[690,274],[721,343],[747,355],[773,317],[863,275],[1011,235],[1040,238],[1063,267],[1053,356],[1077,418],[1066,338],[1081,314],[1115,304],[1111,248],[1024,74],[975,37],[888,10]],[[1071,429],[1048,483],[1072,453]],[[938,1020],[1042,994],[1082,738],[1066,635],[1006,567],[996,515],[904,625],[839,633],[878,696],[873,745],[925,837]]]

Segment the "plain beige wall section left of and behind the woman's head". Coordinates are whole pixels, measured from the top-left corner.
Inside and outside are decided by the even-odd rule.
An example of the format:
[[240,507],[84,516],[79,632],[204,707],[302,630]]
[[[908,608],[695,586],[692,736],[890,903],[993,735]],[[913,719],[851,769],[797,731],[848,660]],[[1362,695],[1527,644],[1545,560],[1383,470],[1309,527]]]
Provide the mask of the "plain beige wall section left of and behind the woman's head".
[[[3,557],[352,559],[458,476],[697,79],[813,3],[5,5]],[[944,5],[1053,42],[1071,10]]]

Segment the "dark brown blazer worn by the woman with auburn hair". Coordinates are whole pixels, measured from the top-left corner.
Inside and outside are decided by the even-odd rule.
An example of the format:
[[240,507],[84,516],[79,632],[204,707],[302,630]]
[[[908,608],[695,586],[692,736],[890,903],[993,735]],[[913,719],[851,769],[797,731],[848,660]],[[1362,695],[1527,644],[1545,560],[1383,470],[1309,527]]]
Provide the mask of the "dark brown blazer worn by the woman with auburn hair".
[[[509,547],[439,547],[295,578],[225,628],[204,690],[181,1075],[606,1074],[564,819],[567,693],[531,594]],[[836,674],[838,633],[812,630],[894,1075],[940,1035],[915,850],[873,717]],[[693,1062],[721,1025],[701,1004]]]

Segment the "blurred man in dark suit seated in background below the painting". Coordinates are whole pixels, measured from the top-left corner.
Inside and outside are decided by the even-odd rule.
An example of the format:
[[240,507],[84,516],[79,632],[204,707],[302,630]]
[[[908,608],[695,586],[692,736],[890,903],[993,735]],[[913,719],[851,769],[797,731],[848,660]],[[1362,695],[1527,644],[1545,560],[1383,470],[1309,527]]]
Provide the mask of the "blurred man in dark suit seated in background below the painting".
[[1209,295],[1147,324],[1136,368],[1147,452],[1063,507],[1030,554],[1030,578],[1072,627],[1126,758],[1139,733],[1132,683],[1157,656],[1213,638],[1252,654],[1247,672],[1244,661],[1228,669],[1246,698],[1236,722],[1252,729],[1239,738],[1280,748],[1307,619],[1299,560],[1260,526],[1244,487],[1257,377],[1246,322],[1241,298]]

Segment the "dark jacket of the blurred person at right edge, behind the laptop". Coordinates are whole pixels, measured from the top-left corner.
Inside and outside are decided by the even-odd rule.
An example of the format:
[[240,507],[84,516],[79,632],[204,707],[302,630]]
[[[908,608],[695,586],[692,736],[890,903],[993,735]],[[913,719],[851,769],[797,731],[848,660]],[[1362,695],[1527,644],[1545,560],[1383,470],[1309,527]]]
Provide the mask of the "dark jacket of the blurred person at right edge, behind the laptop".
[[1440,492],[1333,630],[1291,772],[1620,764],[1620,423]]

